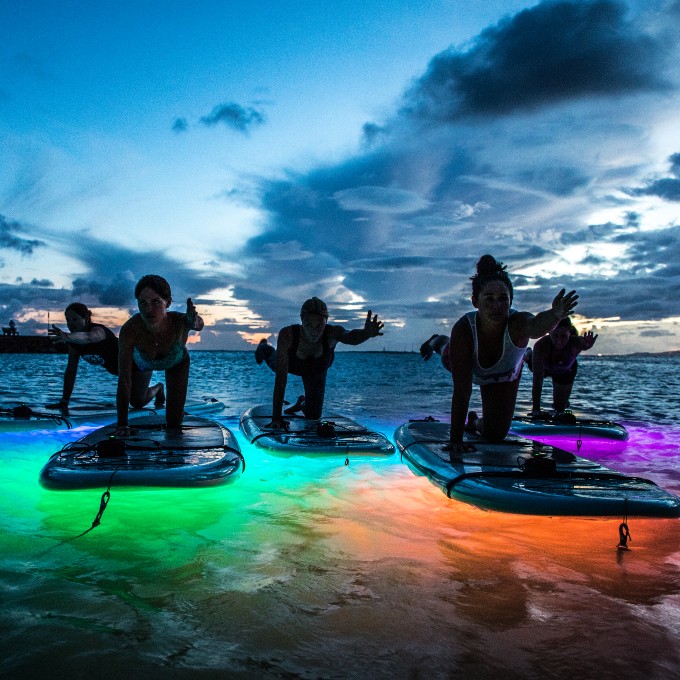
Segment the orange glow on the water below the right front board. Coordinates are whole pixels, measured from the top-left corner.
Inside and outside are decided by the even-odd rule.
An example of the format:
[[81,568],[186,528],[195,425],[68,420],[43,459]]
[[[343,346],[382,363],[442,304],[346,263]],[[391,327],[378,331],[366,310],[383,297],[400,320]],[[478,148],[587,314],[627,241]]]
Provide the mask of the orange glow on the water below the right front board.
[[[395,473],[396,472],[396,473]],[[410,471],[406,471],[411,474]],[[677,572],[680,522],[628,518],[629,551],[617,549],[622,517],[541,517],[480,510],[448,499],[425,478],[390,470],[334,508],[333,542],[360,560],[415,560],[452,578],[597,583],[642,599],[666,592],[659,565]],[[338,512],[338,510],[341,512]],[[621,580],[621,572],[626,579]],[[673,588],[677,586],[671,579]]]

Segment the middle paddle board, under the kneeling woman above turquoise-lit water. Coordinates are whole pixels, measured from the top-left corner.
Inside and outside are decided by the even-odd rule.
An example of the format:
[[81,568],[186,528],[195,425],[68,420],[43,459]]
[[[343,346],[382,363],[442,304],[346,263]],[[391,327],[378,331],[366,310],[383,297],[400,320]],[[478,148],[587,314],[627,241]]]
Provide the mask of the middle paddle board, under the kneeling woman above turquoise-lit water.
[[273,430],[271,406],[253,406],[241,416],[241,431],[251,444],[283,454],[389,456],[394,445],[379,432],[334,413],[319,420],[284,416],[287,430]]

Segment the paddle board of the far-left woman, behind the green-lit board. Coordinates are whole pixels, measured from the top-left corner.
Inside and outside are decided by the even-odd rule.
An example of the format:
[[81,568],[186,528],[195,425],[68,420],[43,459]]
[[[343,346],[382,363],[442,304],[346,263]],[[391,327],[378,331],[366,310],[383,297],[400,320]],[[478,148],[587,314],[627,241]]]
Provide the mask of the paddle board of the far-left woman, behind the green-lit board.
[[[209,416],[224,410],[224,403],[213,397],[187,400],[184,411],[195,416]],[[165,417],[165,408],[131,408],[128,418],[158,415]],[[0,431],[70,430],[79,426],[100,426],[115,423],[118,415],[113,403],[73,404],[68,409],[48,409],[30,404],[5,404],[0,407]]]

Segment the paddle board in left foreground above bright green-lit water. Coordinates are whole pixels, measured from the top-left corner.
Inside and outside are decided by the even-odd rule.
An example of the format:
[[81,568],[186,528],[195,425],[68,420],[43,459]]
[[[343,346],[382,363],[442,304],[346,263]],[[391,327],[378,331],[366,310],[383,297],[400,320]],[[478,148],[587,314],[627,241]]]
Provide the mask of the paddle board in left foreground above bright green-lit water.
[[245,467],[234,434],[213,420],[187,416],[181,430],[167,430],[164,418],[140,416],[131,427],[129,437],[114,438],[116,426],[106,425],[67,444],[47,461],[40,483],[55,490],[216,486]]

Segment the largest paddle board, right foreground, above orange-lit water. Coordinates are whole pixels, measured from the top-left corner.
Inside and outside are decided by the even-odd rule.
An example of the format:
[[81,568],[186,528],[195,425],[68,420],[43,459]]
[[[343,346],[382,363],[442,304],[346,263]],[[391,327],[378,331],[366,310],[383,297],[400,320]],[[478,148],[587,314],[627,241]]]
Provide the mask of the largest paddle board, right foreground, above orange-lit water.
[[394,435],[411,470],[449,498],[532,515],[680,517],[680,498],[650,480],[512,435],[491,444],[466,433],[476,451],[451,462],[449,431],[448,423],[413,421]]

